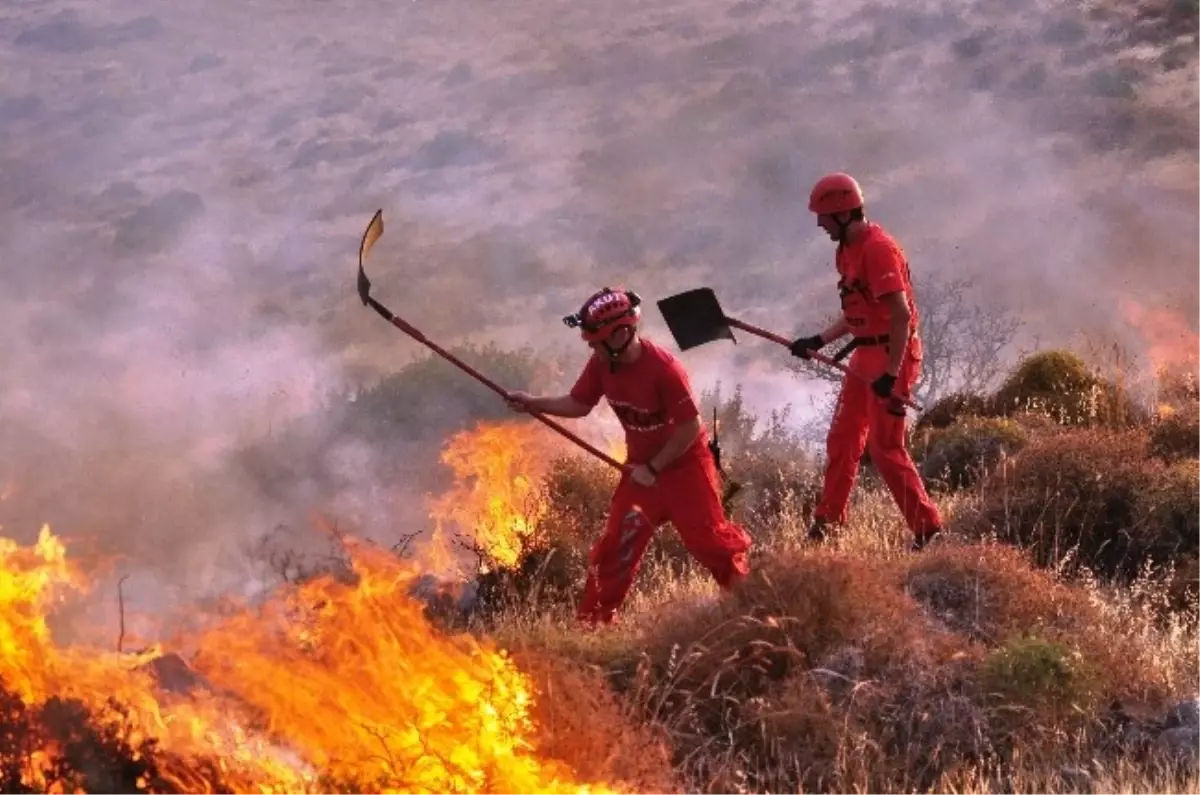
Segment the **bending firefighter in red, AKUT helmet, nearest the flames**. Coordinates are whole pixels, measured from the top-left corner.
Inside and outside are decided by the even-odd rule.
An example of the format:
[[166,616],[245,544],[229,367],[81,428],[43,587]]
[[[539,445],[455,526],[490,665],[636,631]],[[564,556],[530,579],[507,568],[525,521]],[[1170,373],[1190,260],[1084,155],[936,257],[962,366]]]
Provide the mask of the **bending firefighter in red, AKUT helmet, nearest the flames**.
[[730,521],[708,435],[679,360],[637,325],[636,293],[605,288],[563,318],[593,353],[570,393],[509,393],[514,411],[586,417],[607,399],[625,430],[626,464],[604,534],[588,556],[580,621],[611,623],[634,584],[655,528],[670,521],[688,551],[728,590],[749,573],[750,537]]

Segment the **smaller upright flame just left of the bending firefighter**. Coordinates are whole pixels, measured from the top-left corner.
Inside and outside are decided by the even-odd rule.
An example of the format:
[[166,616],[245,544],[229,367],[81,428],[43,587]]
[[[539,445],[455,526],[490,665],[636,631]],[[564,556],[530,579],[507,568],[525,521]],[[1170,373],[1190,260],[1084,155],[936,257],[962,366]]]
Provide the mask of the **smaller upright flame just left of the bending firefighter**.
[[546,515],[541,480],[565,453],[559,436],[529,420],[480,423],[452,436],[442,462],[455,482],[431,503],[436,528],[426,554],[443,562],[446,528],[457,527],[490,562],[515,566]]

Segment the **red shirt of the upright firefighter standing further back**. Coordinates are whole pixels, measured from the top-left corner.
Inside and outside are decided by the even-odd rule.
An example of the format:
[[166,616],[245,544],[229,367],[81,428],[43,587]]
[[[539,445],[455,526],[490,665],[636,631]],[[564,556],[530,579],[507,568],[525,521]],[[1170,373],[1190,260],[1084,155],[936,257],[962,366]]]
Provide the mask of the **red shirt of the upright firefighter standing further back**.
[[878,336],[890,330],[892,312],[881,299],[898,291],[904,291],[912,328],[917,328],[920,317],[912,295],[908,259],[883,227],[869,222],[866,234],[852,245],[838,247],[836,264],[841,311],[854,336]]

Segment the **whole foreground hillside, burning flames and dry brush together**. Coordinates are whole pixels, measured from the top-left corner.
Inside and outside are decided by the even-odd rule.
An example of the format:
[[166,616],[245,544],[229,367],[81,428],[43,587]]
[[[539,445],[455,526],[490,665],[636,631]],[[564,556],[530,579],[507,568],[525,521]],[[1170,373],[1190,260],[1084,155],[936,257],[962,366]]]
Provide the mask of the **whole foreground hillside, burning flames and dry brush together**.
[[664,527],[596,632],[572,614],[614,474],[523,419],[448,441],[432,544],[282,533],[248,603],[126,614],[54,536],[5,542],[0,783],[61,748],[47,787],[1194,791],[1200,391],[1162,398],[1045,352],[931,407],[912,441],[952,532],[919,554],[869,466],[850,526],[804,544],[820,470],[719,401],[751,576],[721,597]]

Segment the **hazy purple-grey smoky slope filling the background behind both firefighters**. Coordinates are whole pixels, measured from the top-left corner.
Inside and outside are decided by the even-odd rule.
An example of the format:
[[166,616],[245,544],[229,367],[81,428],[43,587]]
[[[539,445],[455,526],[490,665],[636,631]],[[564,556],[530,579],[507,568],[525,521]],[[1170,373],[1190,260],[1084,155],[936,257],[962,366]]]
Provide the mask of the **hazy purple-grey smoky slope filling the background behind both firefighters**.
[[[7,2],[0,521],[202,588],[318,472],[365,532],[420,526],[380,474],[403,450],[332,438],[271,494],[230,464],[424,353],[354,295],[377,208],[376,292],[444,345],[582,365],[559,318],[607,283],[667,345],[653,303],[700,285],[811,334],[836,292],[805,201],[847,169],[918,281],[1136,346],[1115,298],[1178,295],[1200,232],[1164,166],[1187,110],[1128,29],[996,1]],[[685,354],[697,387],[822,394],[742,339]]]

